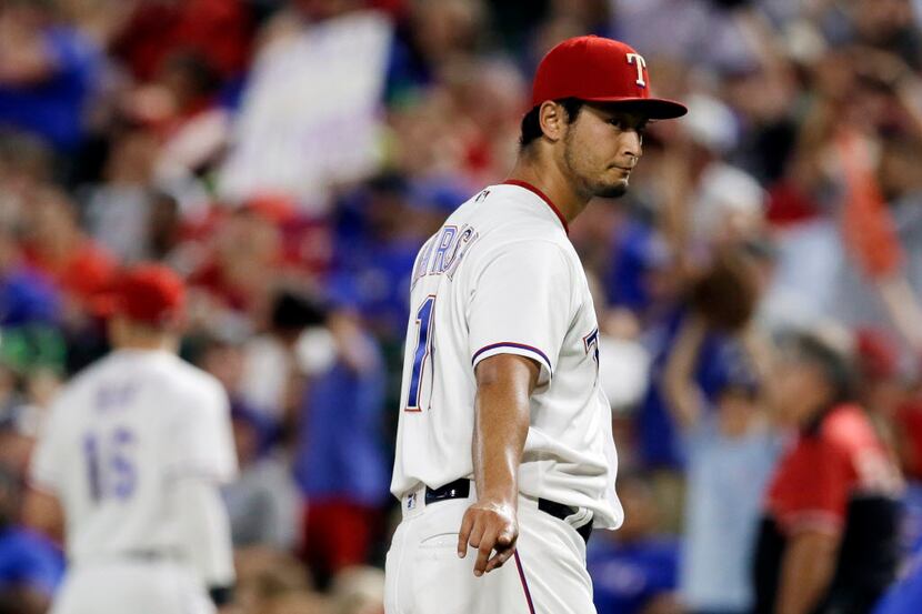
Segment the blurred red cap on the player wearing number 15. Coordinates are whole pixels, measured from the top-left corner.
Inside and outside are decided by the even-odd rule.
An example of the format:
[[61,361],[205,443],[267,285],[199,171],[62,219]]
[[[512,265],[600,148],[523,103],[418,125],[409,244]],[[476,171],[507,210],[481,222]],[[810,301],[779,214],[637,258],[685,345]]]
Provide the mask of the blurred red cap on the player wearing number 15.
[[169,266],[138,264],[121,275],[108,299],[109,314],[166,328],[183,319],[186,284]]

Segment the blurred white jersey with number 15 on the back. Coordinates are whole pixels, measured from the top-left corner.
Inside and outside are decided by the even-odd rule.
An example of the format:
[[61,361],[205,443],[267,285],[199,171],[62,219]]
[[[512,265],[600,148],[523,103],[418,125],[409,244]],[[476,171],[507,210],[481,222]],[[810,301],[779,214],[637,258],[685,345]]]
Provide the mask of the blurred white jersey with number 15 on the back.
[[166,351],[120,350],[60,394],[31,480],[60,500],[71,563],[182,543],[171,481],[237,475],[229,403],[211,375]]

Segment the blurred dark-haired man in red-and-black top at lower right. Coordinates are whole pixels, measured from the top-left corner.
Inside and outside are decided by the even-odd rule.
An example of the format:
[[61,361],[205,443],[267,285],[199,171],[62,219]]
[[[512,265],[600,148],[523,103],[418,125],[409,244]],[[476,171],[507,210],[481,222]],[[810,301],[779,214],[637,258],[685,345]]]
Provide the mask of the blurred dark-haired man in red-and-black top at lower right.
[[799,335],[774,390],[799,427],[769,486],[756,547],[756,614],[859,614],[895,575],[895,464],[851,403],[844,354]]

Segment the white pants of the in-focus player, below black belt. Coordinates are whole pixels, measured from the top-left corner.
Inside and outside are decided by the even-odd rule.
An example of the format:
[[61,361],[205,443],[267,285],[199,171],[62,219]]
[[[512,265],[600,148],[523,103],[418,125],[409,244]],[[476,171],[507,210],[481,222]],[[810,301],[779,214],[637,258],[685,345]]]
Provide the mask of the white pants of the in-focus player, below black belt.
[[481,577],[477,552],[457,554],[471,500],[404,515],[387,560],[387,614],[594,614],[585,544],[577,531],[520,499],[517,556]]

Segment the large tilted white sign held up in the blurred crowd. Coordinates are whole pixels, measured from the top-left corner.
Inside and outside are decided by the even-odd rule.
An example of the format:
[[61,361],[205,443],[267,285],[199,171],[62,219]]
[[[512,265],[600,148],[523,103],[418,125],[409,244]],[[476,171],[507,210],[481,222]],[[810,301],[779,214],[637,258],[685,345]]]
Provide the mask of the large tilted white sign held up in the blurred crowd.
[[385,16],[363,11],[267,47],[243,94],[220,195],[287,194],[321,214],[332,184],[373,172],[392,34]]

